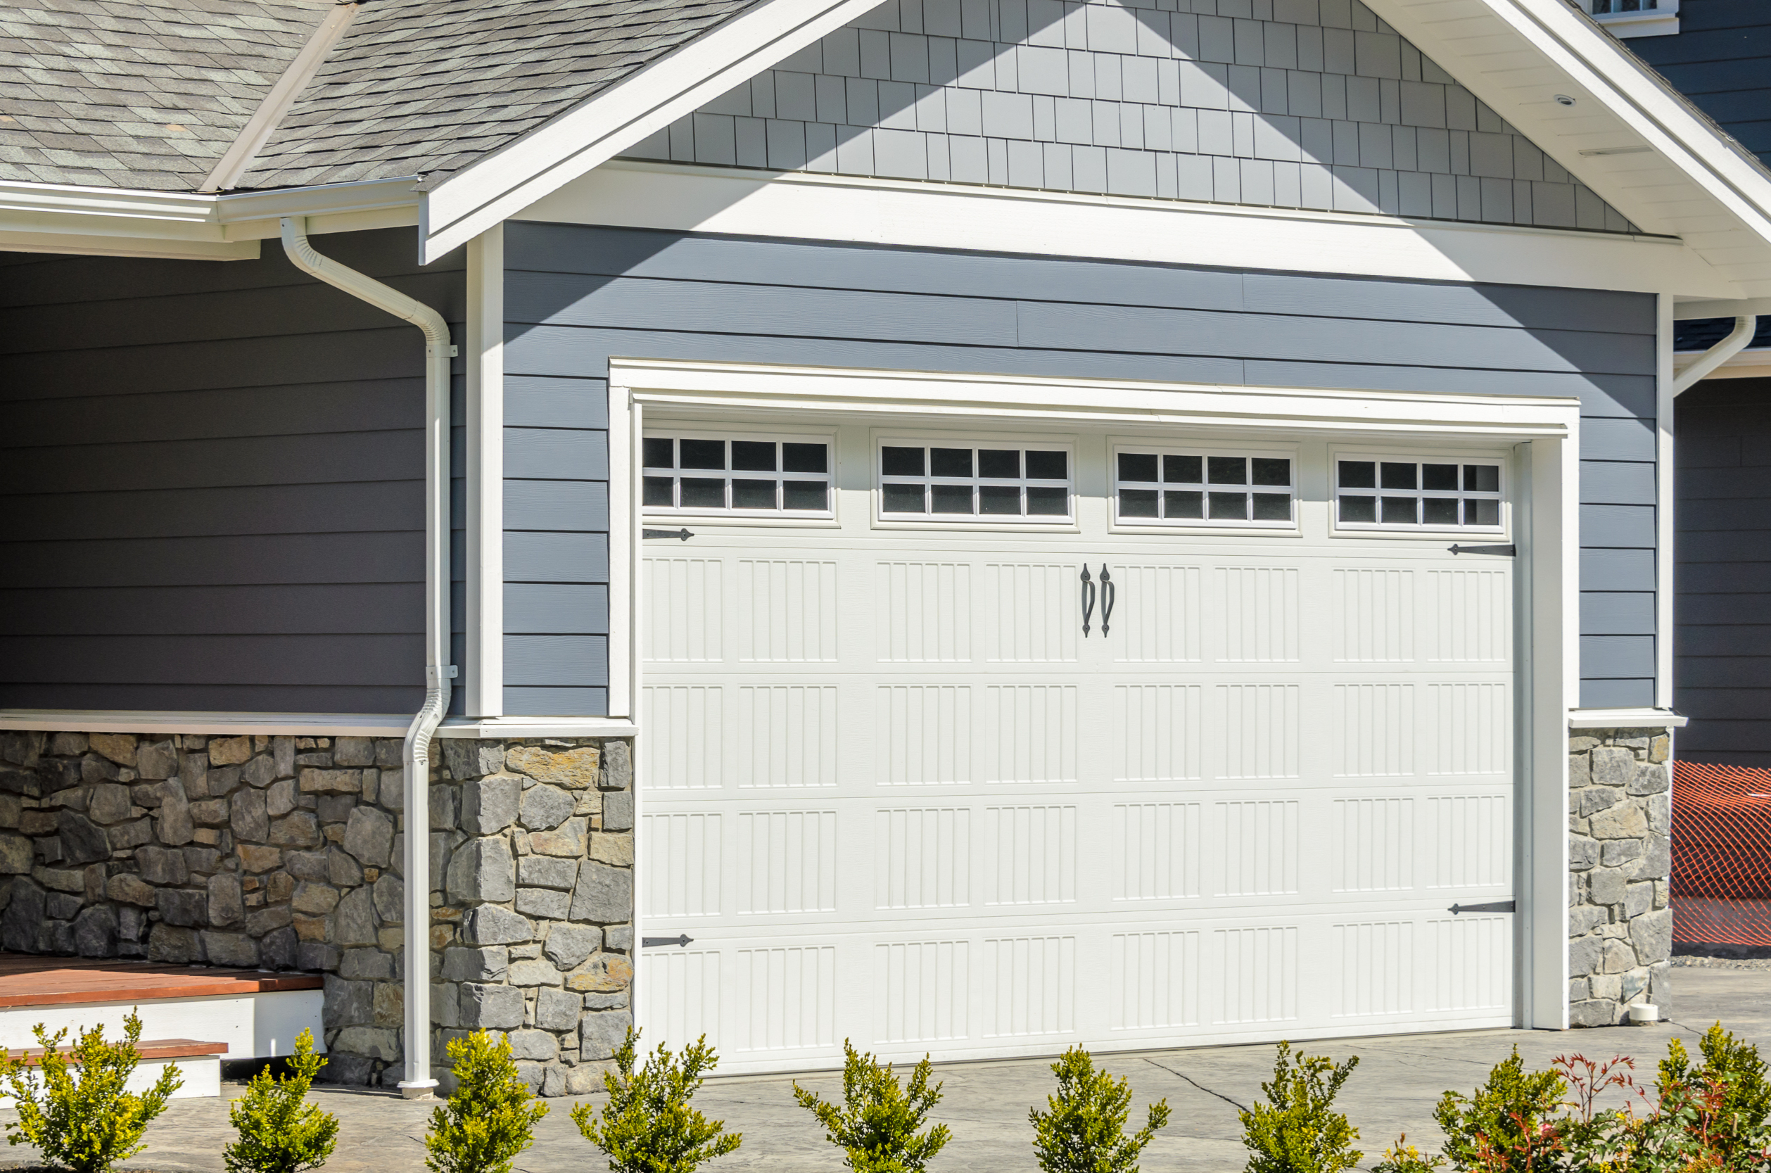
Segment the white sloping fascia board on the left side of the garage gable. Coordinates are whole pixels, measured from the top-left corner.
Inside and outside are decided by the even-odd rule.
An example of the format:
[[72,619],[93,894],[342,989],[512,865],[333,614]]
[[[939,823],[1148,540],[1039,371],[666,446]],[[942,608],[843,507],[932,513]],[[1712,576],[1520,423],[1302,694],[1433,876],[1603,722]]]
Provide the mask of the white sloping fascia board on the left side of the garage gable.
[[423,202],[420,260],[508,220],[549,191],[878,7],[878,0],[765,0],[652,62],[577,110],[450,175]]

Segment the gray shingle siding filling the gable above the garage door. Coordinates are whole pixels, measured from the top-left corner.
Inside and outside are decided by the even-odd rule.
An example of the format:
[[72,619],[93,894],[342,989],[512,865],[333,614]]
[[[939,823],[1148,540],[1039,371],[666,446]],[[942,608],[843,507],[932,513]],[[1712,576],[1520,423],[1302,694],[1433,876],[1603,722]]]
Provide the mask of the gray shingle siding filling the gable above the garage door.
[[629,154],[1631,229],[1358,0],[891,0]]

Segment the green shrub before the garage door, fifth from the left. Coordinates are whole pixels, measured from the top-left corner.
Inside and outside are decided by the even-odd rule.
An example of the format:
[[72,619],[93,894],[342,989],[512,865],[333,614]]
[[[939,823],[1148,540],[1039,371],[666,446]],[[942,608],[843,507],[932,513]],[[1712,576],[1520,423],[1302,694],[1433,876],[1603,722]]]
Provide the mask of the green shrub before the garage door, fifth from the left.
[[910,1070],[905,1090],[891,1063],[877,1063],[843,1040],[843,1104],[838,1107],[793,1084],[793,1099],[824,1125],[832,1145],[847,1154],[855,1173],[919,1173],[953,1134],[937,1123],[917,1132],[928,1109],[940,1102],[940,1084],[928,1086],[933,1065],[928,1056]]

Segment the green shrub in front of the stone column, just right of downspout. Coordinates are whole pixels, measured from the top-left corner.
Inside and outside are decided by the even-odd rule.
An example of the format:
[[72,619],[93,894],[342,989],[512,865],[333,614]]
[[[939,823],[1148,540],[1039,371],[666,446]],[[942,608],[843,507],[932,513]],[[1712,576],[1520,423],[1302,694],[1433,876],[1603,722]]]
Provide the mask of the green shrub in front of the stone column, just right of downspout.
[[510,1162],[535,1143],[535,1122],[547,1115],[510,1058],[510,1040],[485,1031],[452,1038],[448,1061],[455,1091],[430,1113],[425,1166],[434,1173],[510,1173]]

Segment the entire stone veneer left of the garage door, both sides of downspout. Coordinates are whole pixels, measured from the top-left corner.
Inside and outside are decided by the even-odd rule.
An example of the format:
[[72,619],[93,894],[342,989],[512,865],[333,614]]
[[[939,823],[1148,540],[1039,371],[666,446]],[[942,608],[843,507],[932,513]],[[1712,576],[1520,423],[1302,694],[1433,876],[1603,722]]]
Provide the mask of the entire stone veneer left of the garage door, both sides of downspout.
[[[586,1090],[630,1021],[630,748],[437,748],[434,1074],[485,1026],[537,1090]],[[398,739],[4,734],[0,948],[324,973],[328,1077],[393,1083],[402,774]]]

